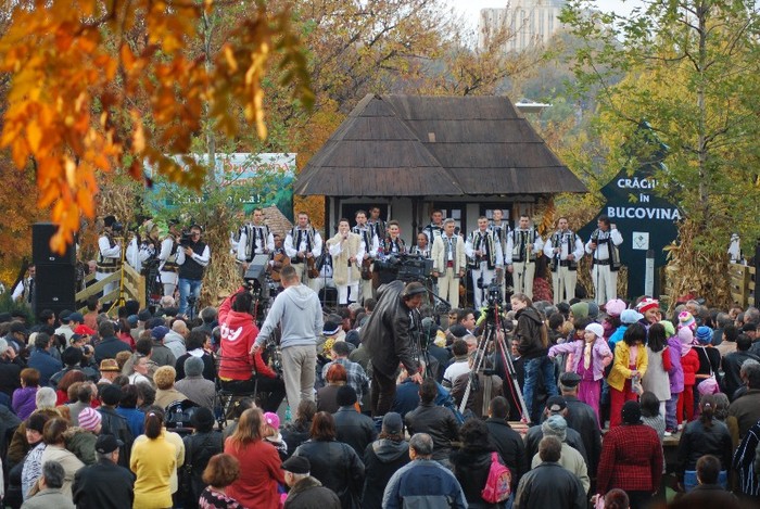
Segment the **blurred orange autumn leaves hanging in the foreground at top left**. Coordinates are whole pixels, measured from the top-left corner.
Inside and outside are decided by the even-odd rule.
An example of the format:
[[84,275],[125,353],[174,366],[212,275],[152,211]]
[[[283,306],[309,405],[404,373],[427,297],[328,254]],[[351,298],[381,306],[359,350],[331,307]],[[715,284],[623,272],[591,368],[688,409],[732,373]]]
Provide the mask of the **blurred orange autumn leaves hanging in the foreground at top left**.
[[[0,145],[14,165],[34,164],[38,206],[60,225],[62,251],[80,216],[96,214],[97,171],[128,168],[143,179],[150,164],[168,180],[200,188],[206,168],[188,154],[203,122],[226,136],[240,129],[238,109],[267,130],[267,67],[293,84],[295,102],[313,96],[288,3],[263,0],[214,54],[190,51],[204,18],[239,2],[214,0],[5,0],[0,69],[10,75]],[[138,105],[147,106],[148,111]],[[147,128],[147,118],[151,126]]]

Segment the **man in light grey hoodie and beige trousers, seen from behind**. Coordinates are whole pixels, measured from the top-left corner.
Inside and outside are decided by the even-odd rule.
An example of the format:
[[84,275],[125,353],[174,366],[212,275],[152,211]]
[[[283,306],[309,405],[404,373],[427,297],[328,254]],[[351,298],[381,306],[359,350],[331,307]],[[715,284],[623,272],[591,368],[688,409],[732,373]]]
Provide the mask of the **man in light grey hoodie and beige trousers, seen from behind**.
[[280,276],[284,290],[271,304],[251,354],[257,354],[280,325],[282,376],[288,405],[297,408],[302,399],[314,400],[317,336],[322,330],[322,311],[319,297],[312,289],[301,284],[293,267],[284,267]]

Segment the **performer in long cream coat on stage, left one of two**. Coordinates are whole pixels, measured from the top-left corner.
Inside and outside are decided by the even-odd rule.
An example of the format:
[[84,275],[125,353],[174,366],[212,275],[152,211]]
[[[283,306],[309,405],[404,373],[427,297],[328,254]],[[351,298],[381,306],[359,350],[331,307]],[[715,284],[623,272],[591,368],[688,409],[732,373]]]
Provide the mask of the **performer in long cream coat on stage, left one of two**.
[[338,233],[327,241],[327,246],[332,256],[332,280],[338,288],[338,304],[347,306],[350,288],[351,302],[359,297],[362,259],[366,250],[364,241],[362,236],[351,232],[349,219],[341,219]]

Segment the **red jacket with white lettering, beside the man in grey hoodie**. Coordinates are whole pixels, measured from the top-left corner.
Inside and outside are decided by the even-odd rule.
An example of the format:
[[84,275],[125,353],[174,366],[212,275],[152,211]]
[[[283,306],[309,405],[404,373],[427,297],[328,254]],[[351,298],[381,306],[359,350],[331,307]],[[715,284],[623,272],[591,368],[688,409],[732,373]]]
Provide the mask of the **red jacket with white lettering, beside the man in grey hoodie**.
[[251,356],[251,347],[258,335],[258,328],[250,314],[231,309],[235,295],[237,293],[227,297],[219,307],[219,378],[249,380],[254,371],[267,378],[276,378],[275,371],[264,362],[261,351],[254,357]]

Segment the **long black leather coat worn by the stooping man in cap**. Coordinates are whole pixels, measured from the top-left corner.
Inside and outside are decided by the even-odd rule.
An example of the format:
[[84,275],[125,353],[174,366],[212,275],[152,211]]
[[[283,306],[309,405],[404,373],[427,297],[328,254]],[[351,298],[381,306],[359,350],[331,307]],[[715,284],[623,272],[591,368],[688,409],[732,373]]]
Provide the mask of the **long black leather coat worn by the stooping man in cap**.
[[409,334],[413,310],[401,298],[402,290],[403,281],[389,283],[367,325],[362,328],[362,343],[367,348],[372,369],[389,378],[395,377],[400,361],[411,373],[418,368]]

